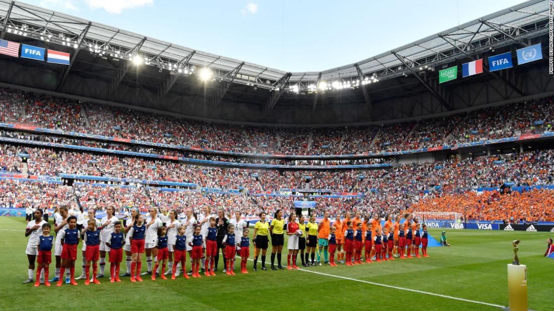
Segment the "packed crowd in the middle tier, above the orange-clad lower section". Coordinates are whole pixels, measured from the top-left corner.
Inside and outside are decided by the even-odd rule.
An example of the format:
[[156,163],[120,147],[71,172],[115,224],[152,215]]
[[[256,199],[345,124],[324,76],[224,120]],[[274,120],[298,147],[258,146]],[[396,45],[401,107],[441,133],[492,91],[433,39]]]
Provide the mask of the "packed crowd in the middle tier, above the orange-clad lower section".
[[[554,184],[554,151],[481,156],[474,159],[405,164],[391,170],[287,171],[202,167],[173,161],[70,152],[37,147],[0,145],[0,169],[22,172],[19,153],[29,154],[29,175],[76,175],[196,183],[202,187],[278,191],[282,188],[368,192],[396,197],[406,205],[440,187],[443,193],[500,187]],[[408,196],[406,199],[403,197]]]

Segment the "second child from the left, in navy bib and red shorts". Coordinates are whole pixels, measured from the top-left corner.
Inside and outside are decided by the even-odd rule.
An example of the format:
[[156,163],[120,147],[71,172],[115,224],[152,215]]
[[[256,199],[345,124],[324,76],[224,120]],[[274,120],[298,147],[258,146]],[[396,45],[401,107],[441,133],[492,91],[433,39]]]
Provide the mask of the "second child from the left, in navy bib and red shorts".
[[[64,275],[65,269],[68,268],[70,283],[76,286],[75,260],[77,260],[77,245],[79,245],[81,233],[77,229],[77,218],[75,216],[70,216],[66,220],[68,222],[68,228],[58,231],[58,238],[63,245],[61,249],[60,275]],[[63,283],[63,280],[59,280],[56,286],[61,286],[61,283]]]

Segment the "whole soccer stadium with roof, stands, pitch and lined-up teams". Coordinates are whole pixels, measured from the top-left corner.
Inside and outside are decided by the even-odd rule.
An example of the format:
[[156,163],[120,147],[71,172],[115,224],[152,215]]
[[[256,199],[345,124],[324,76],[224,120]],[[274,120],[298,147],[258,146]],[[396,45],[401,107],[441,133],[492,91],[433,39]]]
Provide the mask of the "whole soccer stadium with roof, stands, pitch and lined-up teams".
[[0,309],[554,309],[551,1],[303,72],[75,3],[0,0]]

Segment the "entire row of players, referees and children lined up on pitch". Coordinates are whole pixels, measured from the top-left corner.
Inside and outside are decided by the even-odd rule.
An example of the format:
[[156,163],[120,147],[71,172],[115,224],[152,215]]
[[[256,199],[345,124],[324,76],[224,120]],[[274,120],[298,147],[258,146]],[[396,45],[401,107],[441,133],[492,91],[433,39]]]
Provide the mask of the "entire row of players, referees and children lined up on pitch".
[[[186,218],[179,221],[176,210],[171,210],[169,220],[163,224],[157,217],[157,210],[149,210],[150,219],[146,222],[143,214],[137,209],[132,209],[131,221],[125,226],[114,215],[114,208],[106,210],[106,216],[98,221],[95,211],[88,210],[89,219],[84,228],[78,228],[77,218],[68,214],[68,207],[59,208],[59,214],[55,215],[55,238],[50,235],[52,226],[42,219],[42,209],[34,212],[34,220],[27,224],[25,236],[29,236],[27,250],[29,260],[29,278],[24,283],[33,282],[33,274],[36,273],[35,286],[38,287],[41,280],[50,286],[50,282],[57,282],[57,286],[63,284],[63,276],[66,273],[66,283],[77,285],[75,280],[85,280],[85,285],[90,282],[100,284],[98,278],[104,277],[106,253],[110,262],[110,282],[121,282],[120,263],[125,251],[127,272],[122,276],[130,276],[131,282],[141,282],[141,275],[151,275],[152,280],[156,276],[166,279],[165,275],[171,274],[171,278],[179,275],[182,269],[183,276],[189,278],[201,277],[200,267],[206,276],[215,276],[219,261],[219,251],[224,255],[227,275],[234,275],[235,256],[241,258],[240,271],[248,273],[247,260],[250,257],[250,238],[248,223],[241,219],[240,212],[231,222],[224,216],[223,210],[218,210],[217,217],[209,214],[209,207],[204,207],[198,220],[192,213],[192,209],[186,210]],[[315,252],[317,250],[317,265],[321,265],[320,254],[325,256],[325,263],[336,266],[337,260],[346,265],[362,264],[362,250],[365,246],[365,262],[394,260],[393,251],[401,259],[421,257],[419,246],[422,246],[423,256],[427,257],[428,234],[427,226],[420,225],[417,219],[409,214],[404,215],[401,225],[401,216],[397,216],[396,222],[388,216],[384,226],[376,214],[370,219],[362,221],[361,215],[350,219],[350,213],[343,220],[337,215],[336,221],[331,224],[329,213],[315,223],[312,215],[309,222],[305,223],[305,216],[291,213],[288,222],[285,223],[283,210],[278,210],[271,224],[265,220],[265,213],[260,213],[260,220],[254,225],[253,246],[254,271],[257,271],[258,257],[261,255],[261,270],[265,267],[266,251],[268,249],[268,236],[271,236],[271,269],[284,269],[281,265],[281,250],[284,246],[284,235],[288,238],[287,267],[289,270],[299,268],[296,266],[296,257],[301,252],[302,266],[315,266]],[[236,232],[235,232],[236,231]],[[83,239],[82,257],[83,273],[75,278],[75,261],[77,259],[77,246]],[[55,277],[48,280],[49,265],[52,262],[52,247],[56,260]],[[147,271],[141,273],[142,254],[146,253]],[[186,272],[187,254],[191,259],[191,271]],[[329,256],[330,254],[330,256]],[[38,267],[35,272],[35,259]],[[275,259],[278,266],[275,267]],[[346,260],[346,261],[345,261]],[[100,273],[97,275],[98,261],[100,261]],[[179,269],[181,265],[181,269]],[[152,269],[153,266],[153,269]],[[166,266],[168,270],[166,271]],[[93,275],[90,277],[90,267]],[[161,270],[160,270],[161,269]]]

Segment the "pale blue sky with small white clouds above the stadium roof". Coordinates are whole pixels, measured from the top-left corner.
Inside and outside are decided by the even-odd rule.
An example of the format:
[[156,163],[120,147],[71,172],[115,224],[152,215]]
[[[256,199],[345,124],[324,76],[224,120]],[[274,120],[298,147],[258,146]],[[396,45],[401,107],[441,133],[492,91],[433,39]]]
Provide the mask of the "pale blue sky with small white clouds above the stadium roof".
[[285,71],[375,56],[521,1],[26,0],[40,7]]

